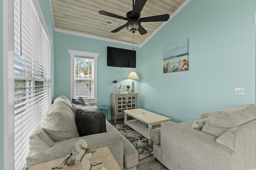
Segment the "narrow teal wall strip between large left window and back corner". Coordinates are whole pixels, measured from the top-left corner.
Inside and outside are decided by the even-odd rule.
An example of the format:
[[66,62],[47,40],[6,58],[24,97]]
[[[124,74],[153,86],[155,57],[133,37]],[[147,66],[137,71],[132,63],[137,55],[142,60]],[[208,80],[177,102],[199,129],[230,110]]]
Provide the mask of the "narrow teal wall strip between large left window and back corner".
[[44,19],[46,21],[47,27],[49,29],[51,38],[52,38],[52,102],[54,100],[54,24],[53,24],[53,20],[52,20],[52,13],[51,11],[51,7],[50,7],[50,1],[47,0],[39,0],[42,12],[44,14]]

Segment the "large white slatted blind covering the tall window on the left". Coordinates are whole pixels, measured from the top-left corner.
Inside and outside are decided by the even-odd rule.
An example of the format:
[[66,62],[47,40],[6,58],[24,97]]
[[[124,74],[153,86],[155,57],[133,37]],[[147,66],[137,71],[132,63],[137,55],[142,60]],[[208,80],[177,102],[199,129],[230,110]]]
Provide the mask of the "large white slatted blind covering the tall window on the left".
[[51,43],[32,0],[14,2],[15,170],[24,168],[28,137],[51,105]]

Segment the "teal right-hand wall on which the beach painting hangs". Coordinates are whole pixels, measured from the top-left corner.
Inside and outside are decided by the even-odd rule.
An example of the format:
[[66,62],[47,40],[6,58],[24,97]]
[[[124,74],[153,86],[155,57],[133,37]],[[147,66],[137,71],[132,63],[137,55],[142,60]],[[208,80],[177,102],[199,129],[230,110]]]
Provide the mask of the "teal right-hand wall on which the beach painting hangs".
[[[185,38],[189,70],[163,74],[163,48]],[[143,107],[172,121],[255,104],[255,0],[190,1],[141,48],[140,62]]]

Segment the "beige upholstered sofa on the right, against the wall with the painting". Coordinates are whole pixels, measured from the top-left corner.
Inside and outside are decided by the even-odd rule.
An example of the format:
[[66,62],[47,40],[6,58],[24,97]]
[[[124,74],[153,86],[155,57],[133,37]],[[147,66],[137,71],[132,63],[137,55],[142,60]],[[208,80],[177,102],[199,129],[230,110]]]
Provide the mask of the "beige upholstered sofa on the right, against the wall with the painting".
[[202,131],[191,128],[195,120],[168,121],[153,129],[154,157],[170,170],[256,168],[256,106],[201,115],[201,119],[206,117]]

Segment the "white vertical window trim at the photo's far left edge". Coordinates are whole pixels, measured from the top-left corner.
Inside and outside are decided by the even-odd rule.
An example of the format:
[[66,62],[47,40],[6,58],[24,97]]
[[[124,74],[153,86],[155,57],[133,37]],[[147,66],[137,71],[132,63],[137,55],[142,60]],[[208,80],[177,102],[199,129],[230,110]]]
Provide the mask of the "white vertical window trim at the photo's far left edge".
[[[14,170],[14,1],[3,1],[4,170]],[[2,147],[2,146],[1,146]]]

